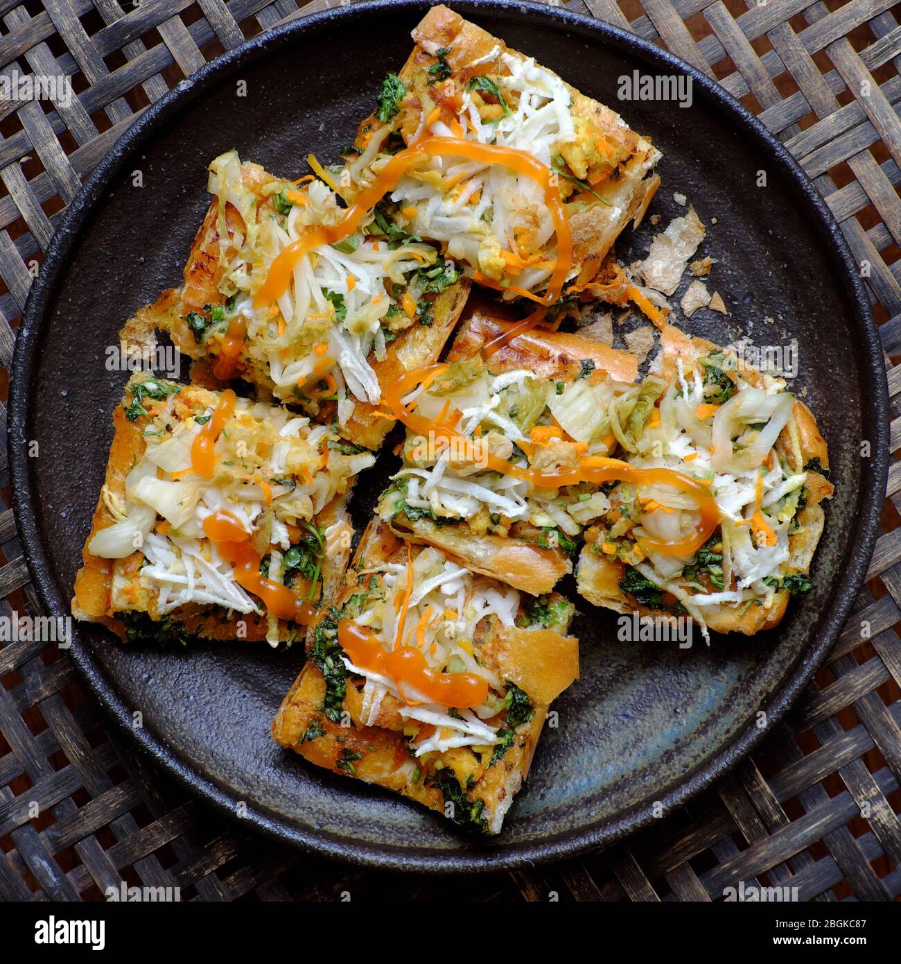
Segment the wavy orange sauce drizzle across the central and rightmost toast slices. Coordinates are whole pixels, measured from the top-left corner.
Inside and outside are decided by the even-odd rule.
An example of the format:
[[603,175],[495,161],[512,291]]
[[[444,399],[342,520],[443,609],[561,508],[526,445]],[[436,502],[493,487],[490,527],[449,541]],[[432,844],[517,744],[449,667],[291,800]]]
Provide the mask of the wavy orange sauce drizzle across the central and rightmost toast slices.
[[[458,445],[471,445],[471,440],[446,421],[439,423],[423,415],[417,415],[412,408],[403,402],[404,395],[408,394],[413,388],[422,384],[426,379],[429,382],[434,381],[447,368],[448,365],[446,364],[430,365],[427,368],[408,372],[402,378],[391,382],[384,389],[384,406],[395,418],[400,419],[417,435],[428,438],[432,433],[435,438],[443,439],[446,442],[455,440]],[[413,403],[413,407],[415,407],[415,403]],[[461,450],[465,451],[465,448]],[[523,469],[506,459],[492,455],[490,452],[480,452],[479,454],[484,461],[487,461],[487,469],[522,479],[541,489],[559,489],[563,486],[578,485],[580,482],[602,485],[605,482],[616,481],[628,482],[633,485],[655,483],[669,485],[686,495],[690,495],[697,502],[698,509],[701,512],[701,524],[695,530],[695,534],[674,542],[644,538],[641,540],[641,546],[646,551],[659,552],[662,555],[690,555],[702,547],[720,521],[717,504],[707,490],[695,479],[684,475],[682,472],[677,472],[675,469],[635,469],[621,459],[585,455],[579,458],[578,469],[546,473],[535,469]]]

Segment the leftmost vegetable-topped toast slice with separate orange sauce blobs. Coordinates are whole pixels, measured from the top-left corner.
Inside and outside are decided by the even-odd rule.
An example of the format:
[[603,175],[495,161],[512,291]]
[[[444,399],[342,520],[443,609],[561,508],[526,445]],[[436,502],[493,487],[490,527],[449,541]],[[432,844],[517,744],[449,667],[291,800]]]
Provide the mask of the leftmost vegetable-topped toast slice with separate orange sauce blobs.
[[372,453],[278,406],[134,375],[72,613],[123,641],[305,631],[350,559],[346,504]]

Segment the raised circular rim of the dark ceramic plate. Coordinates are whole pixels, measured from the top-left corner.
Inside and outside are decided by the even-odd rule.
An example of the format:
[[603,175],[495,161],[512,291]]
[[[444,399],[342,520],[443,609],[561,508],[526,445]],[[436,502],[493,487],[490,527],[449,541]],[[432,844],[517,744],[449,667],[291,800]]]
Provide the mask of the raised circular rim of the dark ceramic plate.
[[[535,23],[536,29],[539,29],[541,21],[564,29],[568,26],[578,28],[592,35],[592,40],[600,48],[624,51],[627,54],[637,55],[646,65],[652,65],[658,69],[668,68],[670,72],[689,75],[693,84],[699,85],[709,98],[711,108],[730,121],[733,129],[742,131],[755,140],[757,147],[773,158],[778,170],[785,176],[789,190],[796,197],[800,192],[799,202],[806,201],[812,208],[817,228],[824,235],[824,240],[825,236],[831,239],[831,245],[825,245],[825,247],[843,269],[840,274],[845,295],[850,302],[849,307],[856,317],[862,336],[861,348],[864,351],[861,352],[861,368],[864,373],[868,371],[872,376],[869,390],[864,390],[862,395],[863,415],[864,420],[868,418],[872,422],[872,426],[867,427],[872,428],[871,451],[872,449],[875,451],[872,451],[870,459],[869,482],[861,486],[861,513],[857,517],[856,532],[849,547],[851,556],[849,565],[835,575],[837,591],[827,603],[826,617],[822,623],[823,631],[818,639],[797,657],[778,689],[769,694],[766,706],[761,707],[766,710],[766,725],[757,727],[753,721],[749,721],[743,730],[712,754],[693,773],[663,794],[662,800],[658,802],[665,813],[671,813],[690,797],[728,773],[782,718],[822,664],[861,589],[872,549],[880,531],[879,520],[888,475],[888,388],[878,329],[863,282],[855,270],[856,262],[832,211],[822,200],[808,179],[808,175],[782,143],[719,83],[648,40],[562,7],[548,7],[533,0],[525,0],[525,2],[523,0],[462,0],[462,2],[449,0],[449,3],[452,9],[464,15],[478,16],[479,13],[486,11],[528,13],[528,16],[523,19]],[[155,104],[146,108],[141,117],[135,120],[107,151],[76,197],[67,205],[44,253],[40,274],[32,284],[16,333],[13,365],[10,369],[7,427],[13,516],[31,581],[46,612],[54,615],[60,613],[68,615],[68,606],[67,601],[61,598],[55,580],[49,575],[37,516],[31,511],[32,478],[29,470],[31,460],[27,451],[28,440],[24,434],[24,427],[27,425],[31,381],[40,365],[40,353],[37,349],[40,331],[46,322],[46,308],[56,290],[56,281],[65,270],[66,254],[77,241],[77,228],[90,217],[95,202],[119,174],[125,161],[135,150],[152,138],[157,124],[165,122],[179,107],[191,104],[204,94],[208,87],[215,86],[233,69],[248,63],[256,63],[265,56],[267,50],[290,45],[296,36],[303,35],[307,31],[322,30],[334,21],[365,19],[384,12],[388,7],[392,11],[408,11],[412,18],[416,13],[421,15],[430,6],[432,5],[423,0],[367,0],[351,6],[311,13],[261,33],[251,40],[246,40],[240,46],[200,67],[190,77],[164,94]],[[162,738],[151,735],[146,729],[136,730],[131,725],[130,710],[120,699],[112,681],[106,678],[86,648],[76,642],[70,647],[68,653],[93,696],[147,756],[155,763],[162,765],[184,787],[202,797],[217,810],[232,819],[239,819],[235,815],[236,797],[230,791],[224,790],[212,774],[185,763],[177,756],[175,749],[168,746]],[[247,805],[248,816],[241,822],[250,822],[254,828],[282,844],[291,844],[308,852],[350,861],[358,866],[380,870],[446,873],[476,869],[511,870],[527,864],[546,863],[578,856],[600,845],[610,844],[646,826],[654,817],[653,811],[653,802],[645,805],[638,804],[617,817],[583,827],[581,830],[570,831],[548,841],[510,844],[507,847],[501,846],[486,851],[458,850],[447,853],[363,843],[331,833],[319,833],[314,829],[299,828],[287,818],[277,817],[272,811],[258,809],[255,805]]]

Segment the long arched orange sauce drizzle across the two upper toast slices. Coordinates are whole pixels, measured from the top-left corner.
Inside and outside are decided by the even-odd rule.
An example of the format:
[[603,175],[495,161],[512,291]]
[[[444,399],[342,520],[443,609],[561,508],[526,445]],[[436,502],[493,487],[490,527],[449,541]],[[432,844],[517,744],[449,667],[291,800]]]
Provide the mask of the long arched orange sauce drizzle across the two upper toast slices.
[[[483,351],[490,355],[505,345],[511,338],[529,331],[543,321],[546,309],[560,297],[572,265],[570,221],[556,184],[556,175],[550,168],[524,150],[479,144],[457,137],[422,138],[411,147],[405,147],[394,154],[374,183],[358,194],[357,200],[348,208],[342,221],[331,227],[316,228],[310,231],[278,254],[269,269],[266,281],[263,282],[253,299],[254,308],[267,308],[276,302],[287,290],[291,281],[291,274],[298,261],[305,254],[312,251],[313,248],[333,244],[335,241],[340,241],[349,234],[353,234],[363,217],[384,198],[384,195],[397,187],[401,177],[414,164],[430,155],[452,155],[487,164],[502,164],[516,171],[517,174],[532,177],[543,186],[544,201],[550,209],[557,233],[557,259],[548,281],[547,292],[543,298],[528,295],[533,301],[539,303],[539,307],[527,318],[520,321],[511,331],[490,341]],[[504,290],[502,285],[497,286]],[[225,342],[223,347],[225,351]]]

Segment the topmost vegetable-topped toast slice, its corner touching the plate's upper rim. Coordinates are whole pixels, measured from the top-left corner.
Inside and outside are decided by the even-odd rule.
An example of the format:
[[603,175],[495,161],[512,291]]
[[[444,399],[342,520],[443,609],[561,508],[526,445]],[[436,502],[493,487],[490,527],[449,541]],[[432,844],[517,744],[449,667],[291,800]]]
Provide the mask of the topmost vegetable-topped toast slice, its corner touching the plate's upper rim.
[[[439,242],[467,276],[505,299],[538,300],[554,286],[558,259],[567,260],[558,294],[562,281],[592,281],[623,228],[648,209],[660,151],[615,111],[443,5],[412,39],[410,58],[385,78],[345,156],[342,194],[354,200],[371,187],[403,147],[441,138],[496,147],[488,161],[471,148],[443,156],[430,148],[385,197],[384,217],[401,233]],[[542,170],[515,170],[504,148]],[[571,254],[556,236],[558,199]]]

